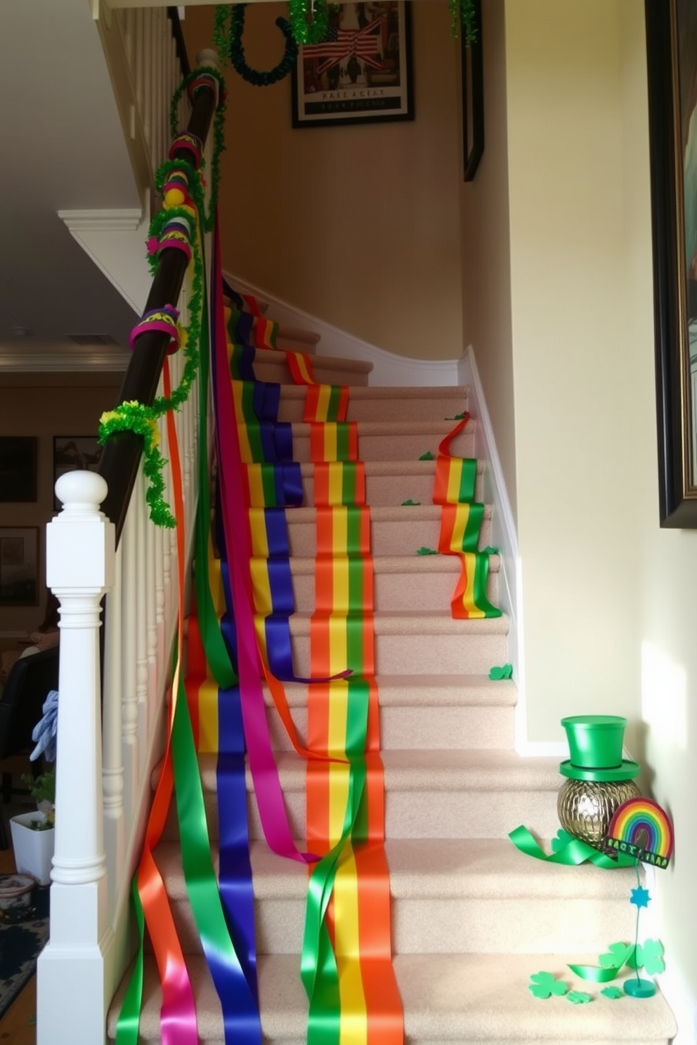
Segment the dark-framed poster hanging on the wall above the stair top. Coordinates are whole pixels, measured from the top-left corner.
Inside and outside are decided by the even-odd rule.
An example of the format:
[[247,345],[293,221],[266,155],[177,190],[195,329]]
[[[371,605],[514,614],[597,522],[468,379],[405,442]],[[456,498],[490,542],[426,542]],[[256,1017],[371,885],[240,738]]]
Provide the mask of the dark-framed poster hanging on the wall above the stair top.
[[293,126],[414,119],[409,0],[329,5],[327,37],[298,48]]

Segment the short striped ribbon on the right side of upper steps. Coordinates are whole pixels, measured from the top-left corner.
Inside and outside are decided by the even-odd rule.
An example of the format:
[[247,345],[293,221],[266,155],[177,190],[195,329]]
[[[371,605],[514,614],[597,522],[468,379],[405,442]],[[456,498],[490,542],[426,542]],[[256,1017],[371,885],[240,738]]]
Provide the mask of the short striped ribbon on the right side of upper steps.
[[465,414],[438,447],[433,495],[434,504],[441,506],[438,551],[441,555],[458,555],[461,561],[460,578],[450,600],[457,620],[501,617],[501,610],[491,605],[486,594],[489,555],[479,551],[484,505],[474,501],[477,460],[452,457],[449,449],[451,440],[468,421],[469,414]]

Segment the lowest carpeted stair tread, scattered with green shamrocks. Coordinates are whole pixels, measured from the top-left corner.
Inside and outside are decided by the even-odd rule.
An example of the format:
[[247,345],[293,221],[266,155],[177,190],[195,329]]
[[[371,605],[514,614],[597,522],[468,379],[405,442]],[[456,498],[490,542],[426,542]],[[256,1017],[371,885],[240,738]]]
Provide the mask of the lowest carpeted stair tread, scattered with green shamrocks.
[[[563,998],[545,1003],[528,991],[530,976],[539,970],[555,973],[577,990],[598,996],[599,988],[572,976],[567,962],[595,961],[579,954],[398,954],[394,971],[404,1008],[404,1036],[416,1043],[577,1042],[579,1045],[665,1043],[676,1032],[675,1019],[665,998],[620,1003],[598,997],[594,1004],[570,1005]],[[145,955],[140,1036],[160,1040],[161,995],[157,969]],[[188,955],[202,1045],[223,1045],[220,1005],[201,955]],[[258,957],[261,1027],[273,1043],[305,1041],[307,998],[300,979],[299,958],[293,954]],[[119,989],[109,1016],[109,1037],[115,1037],[122,997]]]

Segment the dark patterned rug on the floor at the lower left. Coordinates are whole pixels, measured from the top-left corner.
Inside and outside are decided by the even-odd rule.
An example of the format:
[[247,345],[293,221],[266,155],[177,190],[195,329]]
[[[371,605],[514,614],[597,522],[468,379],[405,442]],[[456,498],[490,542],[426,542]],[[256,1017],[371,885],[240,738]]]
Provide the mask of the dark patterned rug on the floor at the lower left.
[[37,887],[21,922],[0,918],[0,1018],[37,971],[37,958],[48,939],[48,887]]

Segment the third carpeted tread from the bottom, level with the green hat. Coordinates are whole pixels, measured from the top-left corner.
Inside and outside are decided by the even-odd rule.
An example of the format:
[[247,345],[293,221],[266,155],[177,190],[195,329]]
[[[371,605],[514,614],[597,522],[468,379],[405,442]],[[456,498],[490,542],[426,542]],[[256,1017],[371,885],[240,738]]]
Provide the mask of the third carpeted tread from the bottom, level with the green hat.
[[[492,748],[382,751],[386,791],[550,791],[559,790],[559,760],[524,759],[516,751]],[[306,762],[295,751],[277,751],[284,791],[305,789]],[[217,756],[199,756],[205,791],[216,789]],[[156,770],[156,773],[158,770]],[[156,777],[157,779],[157,777]],[[248,772],[248,787],[251,776]],[[511,830],[516,825],[511,825]]]

